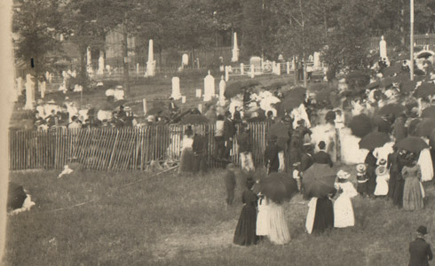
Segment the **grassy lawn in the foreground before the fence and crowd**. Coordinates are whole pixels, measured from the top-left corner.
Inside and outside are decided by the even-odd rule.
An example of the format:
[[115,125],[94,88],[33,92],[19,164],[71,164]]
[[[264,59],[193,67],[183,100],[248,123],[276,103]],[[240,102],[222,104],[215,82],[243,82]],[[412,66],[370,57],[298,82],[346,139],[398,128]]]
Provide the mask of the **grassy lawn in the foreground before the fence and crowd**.
[[[5,265],[406,265],[417,226],[435,233],[433,183],[425,184],[426,207],[415,212],[357,197],[356,226],[322,236],[305,233],[307,201],[298,195],[285,206],[289,245],[240,247],[232,242],[241,180],[237,200],[227,208],[223,171],[205,176],[84,171],[57,179],[58,174],[11,174],[36,207],[9,216]],[[96,201],[55,210],[89,200]]]

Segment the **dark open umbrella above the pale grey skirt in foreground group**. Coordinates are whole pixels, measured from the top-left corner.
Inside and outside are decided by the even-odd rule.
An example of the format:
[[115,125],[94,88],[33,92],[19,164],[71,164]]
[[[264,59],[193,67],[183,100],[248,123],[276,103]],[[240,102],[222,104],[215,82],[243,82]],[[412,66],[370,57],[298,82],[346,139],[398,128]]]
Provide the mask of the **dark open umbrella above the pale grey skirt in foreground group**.
[[297,181],[284,173],[273,173],[260,182],[261,193],[274,202],[290,200],[297,192]]

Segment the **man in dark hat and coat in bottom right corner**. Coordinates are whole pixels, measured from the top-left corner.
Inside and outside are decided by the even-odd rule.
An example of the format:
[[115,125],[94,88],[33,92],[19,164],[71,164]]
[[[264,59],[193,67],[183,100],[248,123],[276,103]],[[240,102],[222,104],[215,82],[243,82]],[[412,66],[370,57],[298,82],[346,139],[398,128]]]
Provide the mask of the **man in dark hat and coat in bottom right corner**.
[[409,266],[429,266],[429,261],[433,255],[431,245],[424,240],[424,235],[427,234],[427,228],[420,225],[417,229],[417,238],[409,243]]

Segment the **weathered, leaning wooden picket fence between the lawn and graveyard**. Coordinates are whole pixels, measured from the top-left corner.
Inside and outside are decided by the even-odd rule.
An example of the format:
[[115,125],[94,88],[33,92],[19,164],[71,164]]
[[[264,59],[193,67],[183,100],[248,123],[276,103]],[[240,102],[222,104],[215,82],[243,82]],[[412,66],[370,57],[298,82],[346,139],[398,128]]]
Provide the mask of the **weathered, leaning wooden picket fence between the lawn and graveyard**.
[[[250,123],[252,156],[263,164],[266,133],[264,122]],[[152,125],[140,129],[56,129],[50,131],[10,131],[9,168],[61,169],[80,163],[95,170],[146,170],[152,160],[177,162],[186,129],[183,125]],[[221,163],[212,159],[216,147],[214,125],[194,127],[207,137],[207,161],[211,168]],[[233,142],[232,160],[240,165],[237,141]]]

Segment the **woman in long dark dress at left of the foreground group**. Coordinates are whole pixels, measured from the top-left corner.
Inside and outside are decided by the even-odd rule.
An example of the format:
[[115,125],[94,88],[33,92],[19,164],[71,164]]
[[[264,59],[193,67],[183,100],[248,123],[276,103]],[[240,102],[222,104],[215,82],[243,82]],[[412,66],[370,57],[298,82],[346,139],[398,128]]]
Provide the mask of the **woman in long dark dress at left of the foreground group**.
[[241,195],[243,208],[239,223],[234,232],[233,243],[240,246],[257,244],[257,195],[250,189],[255,184],[252,179],[247,181],[247,189]]

